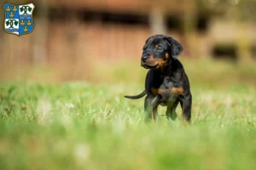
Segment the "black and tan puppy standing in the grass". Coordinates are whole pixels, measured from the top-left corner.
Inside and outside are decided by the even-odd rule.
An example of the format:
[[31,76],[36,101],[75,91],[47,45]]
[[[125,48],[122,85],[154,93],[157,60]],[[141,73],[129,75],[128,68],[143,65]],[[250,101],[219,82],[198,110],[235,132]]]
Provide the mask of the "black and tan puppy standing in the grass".
[[175,110],[180,103],[183,120],[190,121],[192,95],[189,78],[177,59],[182,51],[181,44],[172,37],[155,35],[146,41],[141,59],[141,65],[149,69],[145,90],[137,96],[125,96],[128,99],[140,99],[147,94],[144,103],[146,120],[155,120],[158,105],[166,105],[167,118],[175,120]]

